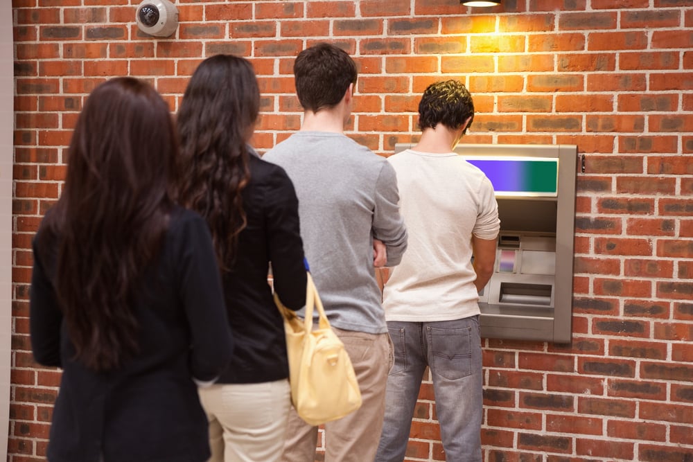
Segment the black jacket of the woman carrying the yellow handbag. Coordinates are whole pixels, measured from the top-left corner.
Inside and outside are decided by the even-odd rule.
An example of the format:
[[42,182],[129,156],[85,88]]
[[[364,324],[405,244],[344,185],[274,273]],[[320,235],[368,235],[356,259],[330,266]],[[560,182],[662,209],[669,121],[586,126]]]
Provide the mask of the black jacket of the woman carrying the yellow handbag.
[[306,269],[299,229],[298,199],[283,168],[250,156],[251,179],[243,189],[247,226],[236,259],[222,274],[234,356],[220,383],[260,383],[289,376],[283,320],[274,290],[292,310],[306,303]]

